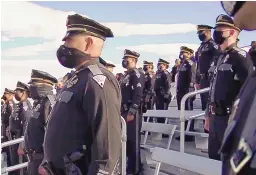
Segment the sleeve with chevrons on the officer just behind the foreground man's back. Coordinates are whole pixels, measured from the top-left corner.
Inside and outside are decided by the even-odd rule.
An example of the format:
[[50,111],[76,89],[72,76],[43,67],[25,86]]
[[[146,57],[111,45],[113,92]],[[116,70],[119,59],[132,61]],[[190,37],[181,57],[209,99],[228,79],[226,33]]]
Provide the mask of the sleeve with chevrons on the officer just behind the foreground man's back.
[[134,70],[131,76],[131,83],[133,86],[132,104],[129,109],[129,114],[135,115],[140,107],[141,99],[143,96],[143,89],[145,85],[145,76],[140,74],[138,70]]

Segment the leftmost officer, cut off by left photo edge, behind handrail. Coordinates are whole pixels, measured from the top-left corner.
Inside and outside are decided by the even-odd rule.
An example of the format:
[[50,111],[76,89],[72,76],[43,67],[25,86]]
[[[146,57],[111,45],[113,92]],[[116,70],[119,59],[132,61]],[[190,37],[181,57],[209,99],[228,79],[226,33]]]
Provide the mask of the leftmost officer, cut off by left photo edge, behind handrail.
[[[4,104],[1,106],[1,142],[6,142],[8,140],[12,140],[10,129],[9,129],[9,118],[12,114],[12,111],[14,109],[15,103],[13,101],[13,96],[15,92],[13,90],[5,88],[3,100]],[[5,147],[2,149],[2,153],[6,154],[7,157],[7,165],[11,166],[11,147]]]

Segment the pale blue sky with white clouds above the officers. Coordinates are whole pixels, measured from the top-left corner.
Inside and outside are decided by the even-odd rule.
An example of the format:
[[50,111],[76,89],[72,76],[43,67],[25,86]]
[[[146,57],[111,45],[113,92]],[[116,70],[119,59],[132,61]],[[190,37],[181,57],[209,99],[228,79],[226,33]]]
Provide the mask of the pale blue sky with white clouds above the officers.
[[[140,53],[139,66],[143,60],[156,64],[159,58],[173,64],[180,46],[198,48],[197,24],[214,26],[217,16],[225,14],[218,1],[2,2],[1,92],[15,88],[17,81],[28,82],[32,69],[56,78],[70,71],[58,63],[56,50],[63,43],[67,16],[75,13],[113,31],[101,56],[117,66],[114,73],[123,71],[124,49]],[[256,32],[241,32],[238,45],[249,45],[253,36]]]

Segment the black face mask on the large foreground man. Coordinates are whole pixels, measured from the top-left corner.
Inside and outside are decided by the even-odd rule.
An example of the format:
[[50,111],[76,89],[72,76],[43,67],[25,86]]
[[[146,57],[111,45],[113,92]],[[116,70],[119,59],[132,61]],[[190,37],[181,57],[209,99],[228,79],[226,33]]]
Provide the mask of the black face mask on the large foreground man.
[[88,59],[88,55],[75,48],[61,45],[57,50],[57,58],[60,64],[67,68],[74,68]]

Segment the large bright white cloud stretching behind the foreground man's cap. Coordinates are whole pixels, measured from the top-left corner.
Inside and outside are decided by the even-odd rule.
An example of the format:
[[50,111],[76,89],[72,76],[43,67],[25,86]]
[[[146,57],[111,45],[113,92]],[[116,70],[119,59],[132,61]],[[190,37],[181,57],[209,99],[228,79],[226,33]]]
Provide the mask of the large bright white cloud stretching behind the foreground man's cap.
[[[2,38],[43,38],[47,42],[3,50],[2,56],[35,56],[41,52],[55,51],[66,32],[66,18],[72,11],[60,11],[42,7],[31,2],[2,3]],[[85,15],[83,15],[85,16]],[[97,20],[97,19],[96,19]],[[163,35],[196,31],[194,24],[128,24],[103,23],[115,36]]]

